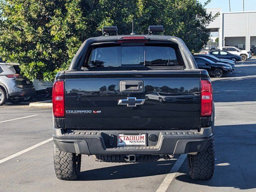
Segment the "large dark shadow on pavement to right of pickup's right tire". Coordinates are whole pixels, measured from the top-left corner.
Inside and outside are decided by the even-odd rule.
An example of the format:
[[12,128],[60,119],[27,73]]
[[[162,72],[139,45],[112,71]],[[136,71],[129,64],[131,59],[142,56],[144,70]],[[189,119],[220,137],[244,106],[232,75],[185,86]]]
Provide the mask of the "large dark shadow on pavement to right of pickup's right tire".
[[219,134],[215,134],[216,161],[213,178],[192,180],[188,175],[185,161],[180,168],[180,172],[184,174],[177,176],[176,179],[210,187],[232,187],[242,190],[256,188],[256,124],[215,126],[215,129]]

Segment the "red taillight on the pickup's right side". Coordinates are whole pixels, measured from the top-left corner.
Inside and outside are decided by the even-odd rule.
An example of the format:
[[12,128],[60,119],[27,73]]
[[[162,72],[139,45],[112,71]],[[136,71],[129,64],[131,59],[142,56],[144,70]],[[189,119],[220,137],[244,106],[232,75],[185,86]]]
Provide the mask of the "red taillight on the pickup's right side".
[[201,80],[201,116],[212,115],[212,83]]

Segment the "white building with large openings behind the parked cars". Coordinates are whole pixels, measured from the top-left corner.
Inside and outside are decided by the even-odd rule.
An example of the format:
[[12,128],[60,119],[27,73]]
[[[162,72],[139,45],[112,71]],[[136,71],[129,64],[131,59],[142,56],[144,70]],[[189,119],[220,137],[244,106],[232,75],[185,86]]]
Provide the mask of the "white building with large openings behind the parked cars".
[[220,13],[207,28],[219,32],[219,46],[236,46],[250,50],[256,47],[256,11],[221,12],[221,8],[208,9],[212,14]]

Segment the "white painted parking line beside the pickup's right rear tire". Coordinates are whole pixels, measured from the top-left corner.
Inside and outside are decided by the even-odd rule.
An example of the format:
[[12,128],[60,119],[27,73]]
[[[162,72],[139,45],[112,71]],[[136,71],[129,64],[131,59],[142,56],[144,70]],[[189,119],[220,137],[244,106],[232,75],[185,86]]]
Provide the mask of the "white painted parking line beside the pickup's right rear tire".
[[178,158],[174,166],[171,168],[170,172],[166,175],[163,182],[160,184],[160,186],[156,190],[156,192],[166,192],[166,190],[168,189],[172,180],[175,178],[177,172],[180,169],[180,166],[182,165],[186,157],[187,157],[187,154],[180,155],[180,157]]

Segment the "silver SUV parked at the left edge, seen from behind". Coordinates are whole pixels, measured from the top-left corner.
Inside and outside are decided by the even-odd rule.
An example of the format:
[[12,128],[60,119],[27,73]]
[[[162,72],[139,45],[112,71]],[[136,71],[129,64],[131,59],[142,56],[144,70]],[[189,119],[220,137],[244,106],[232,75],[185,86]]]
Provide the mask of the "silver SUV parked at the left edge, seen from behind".
[[19,64],[0,62],[0,105],[7,99],[12,103],[19,103],[22,98],[33,96],[33,83],[20,74]]

